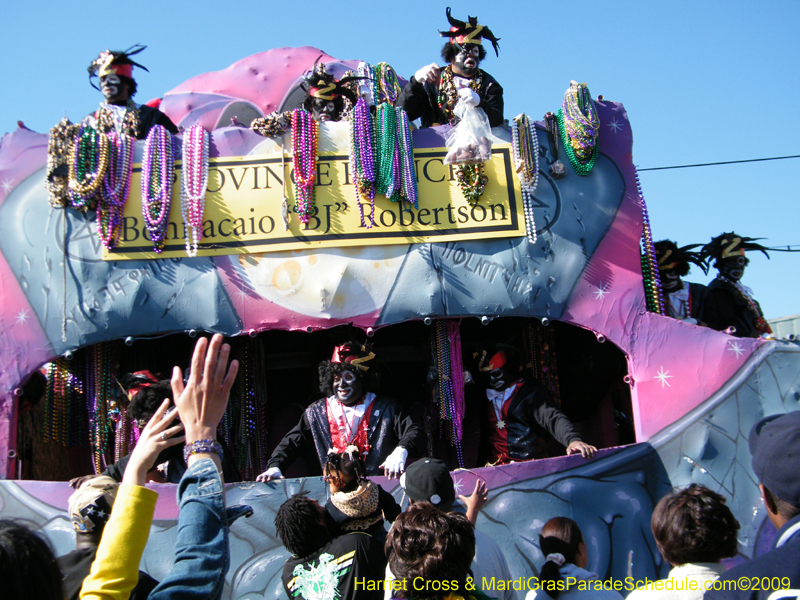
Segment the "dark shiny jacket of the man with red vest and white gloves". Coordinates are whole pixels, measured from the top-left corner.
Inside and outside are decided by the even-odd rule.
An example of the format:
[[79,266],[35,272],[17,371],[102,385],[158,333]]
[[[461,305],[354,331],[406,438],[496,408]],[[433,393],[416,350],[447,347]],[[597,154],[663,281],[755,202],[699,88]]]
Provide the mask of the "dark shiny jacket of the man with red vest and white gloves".
[[[364,459],[367,475],[383,475],[378,467],[397,446],[408,450],[409,458],[419,456],[425,450],[425,434],[422,428],[394,400],[386,396],[375,397],[367,439],[371,448]],[[317,452],[320,466],[325,464],[328,450],[332,447],[326,398],[317,400],[305,410],[300,422],[272,452],[267,469],[278,467],[285,471],[311,445]]]

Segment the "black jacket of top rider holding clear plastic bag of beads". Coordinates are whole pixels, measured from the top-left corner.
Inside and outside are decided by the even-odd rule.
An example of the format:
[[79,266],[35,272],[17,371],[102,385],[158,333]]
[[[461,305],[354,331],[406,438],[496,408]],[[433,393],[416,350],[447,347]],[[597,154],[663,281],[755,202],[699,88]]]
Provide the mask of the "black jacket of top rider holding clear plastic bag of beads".
[[[482,108],[489,117],[489,125],[497,127],[503,124],[503,88],[494,77],[483,69],[481,69],[481,77],[483,80],[478,94],[481,101],[478,108]],[[411,121],[420,117],[423,128],[433,124],[446,125],[447,120],[439,110],[437,97],[438,92],[434,86],[423,85],[412,77],[397,99],[397,106],[406,109]]]

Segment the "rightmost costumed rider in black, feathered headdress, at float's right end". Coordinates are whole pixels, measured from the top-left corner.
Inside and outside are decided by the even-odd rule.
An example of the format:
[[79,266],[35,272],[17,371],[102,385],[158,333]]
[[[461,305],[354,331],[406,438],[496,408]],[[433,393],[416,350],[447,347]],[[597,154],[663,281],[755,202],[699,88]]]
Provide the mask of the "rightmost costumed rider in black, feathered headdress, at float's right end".
[[724,331],[734,327],[732,334],[736,337],[758,337],[763,333],[772,333],[772,329],[764,319],[753,290],[742,285],[744,269],[750,262],[744,255],[747,250],[759,250],[767,258],[767,249],[756,240],[746,238],[737,233],[723,233],[703,246],[701,254],[706,263],[714,259],[714,267],[719,271],[708,289],[714,303],[715,317],[708,321],[709,327]]

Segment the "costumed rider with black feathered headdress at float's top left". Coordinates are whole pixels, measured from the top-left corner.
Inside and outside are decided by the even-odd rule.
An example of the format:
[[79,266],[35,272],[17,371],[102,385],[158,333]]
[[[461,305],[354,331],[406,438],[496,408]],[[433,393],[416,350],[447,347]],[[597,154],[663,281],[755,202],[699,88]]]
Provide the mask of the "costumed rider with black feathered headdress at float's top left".
[[[98,110],[83,120],[85,125],[91,125],[102,133],[116,130],[139,140],[145,139],[154,125],[163,125],[170,133],[178,133],[175,124],[160,110],[133,101],[136,94],[133,67],[147,69],[134,62],[131,56],[146,47],[136,45],[123,52],[105,50],[92,61],[88,68],[89,83],[102,92],[104,101]],[[94,77],[100,78],[99,88],[92,81]]]

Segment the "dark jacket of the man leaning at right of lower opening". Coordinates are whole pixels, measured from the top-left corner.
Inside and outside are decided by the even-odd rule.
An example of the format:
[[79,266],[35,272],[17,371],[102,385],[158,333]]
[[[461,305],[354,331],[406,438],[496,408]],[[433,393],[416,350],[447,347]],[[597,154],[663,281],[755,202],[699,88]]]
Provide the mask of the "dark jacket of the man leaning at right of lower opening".
[[575,426],[553,402],[550,392],[534,379],[514,395],[506,417],[508,455],[511,460],[545,458],[542,437],[548,433],[562,446],[580,441]]

